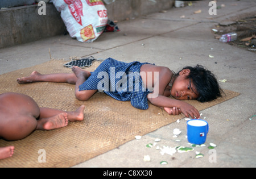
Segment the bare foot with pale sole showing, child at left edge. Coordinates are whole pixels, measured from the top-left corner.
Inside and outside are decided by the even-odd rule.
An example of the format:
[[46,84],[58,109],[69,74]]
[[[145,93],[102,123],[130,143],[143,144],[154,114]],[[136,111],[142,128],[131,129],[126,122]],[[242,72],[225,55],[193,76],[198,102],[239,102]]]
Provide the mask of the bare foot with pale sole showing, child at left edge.
[[53,130],[53,129],[61,128],[65,126],[68,126],[68,114],[61,113],[51,118],[38,120],[38,127],[36,129],[37,130]]

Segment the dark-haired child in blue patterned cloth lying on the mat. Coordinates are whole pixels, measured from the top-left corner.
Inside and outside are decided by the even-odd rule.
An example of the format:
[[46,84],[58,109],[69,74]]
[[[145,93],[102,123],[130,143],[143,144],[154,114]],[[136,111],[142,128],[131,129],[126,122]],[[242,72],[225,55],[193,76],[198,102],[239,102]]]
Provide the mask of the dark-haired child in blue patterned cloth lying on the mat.
[[[134,61],[124,63],[112,58],[104,60],[94,72],[77,66],[73,73],[40,74],[18,78],[19,84],[30,82],[67,82],[75,84],[75,96],[87,101],[102,91],[119,101],[131,101],[137,109],[148,109],[148,102],[170,115],[183,113],[189,118],[200,118],[199,111],[183,100],[207,102],[221,97],[216,77],[203,66],[186,66],[177,74],[167,67]],[[173,98],[170,98],[173,97]]]

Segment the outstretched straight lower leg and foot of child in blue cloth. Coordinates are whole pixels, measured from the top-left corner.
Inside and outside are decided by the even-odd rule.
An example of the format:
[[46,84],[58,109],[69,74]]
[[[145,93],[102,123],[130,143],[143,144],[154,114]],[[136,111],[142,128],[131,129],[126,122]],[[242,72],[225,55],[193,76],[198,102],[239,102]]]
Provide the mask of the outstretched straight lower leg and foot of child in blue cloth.
[[64,82],[75,85],[77,77],[74,73],[53,73],[53,74],[40,74],[36,71],[32,72],[30,76],[18,78],[19,84],[27,84],[31,82]]

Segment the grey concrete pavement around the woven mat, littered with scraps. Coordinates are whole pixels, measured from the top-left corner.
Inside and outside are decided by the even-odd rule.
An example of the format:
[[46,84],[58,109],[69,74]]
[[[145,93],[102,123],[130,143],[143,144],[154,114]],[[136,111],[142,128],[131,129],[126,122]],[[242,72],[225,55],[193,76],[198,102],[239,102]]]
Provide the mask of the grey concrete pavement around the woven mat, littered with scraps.
[[[186,65],[204,65],[216,74],[218,80],[227,80],[220,82],[223,89],[241,93],[236,98],[200,111],[209,123],[205,147],[194,147],[194,151],[177,152],[172,156],[162,155],[156,149],[156,146],[163,148],[163,145],[190,146],[185,138],[187,120],[181,119],[180,123],[159,128],[140,140],[134,138],[74,167],[255,167],[256,117],[249,118],[256,114],[256,55],[214,39],[212,28],[233,16],[254,16],[256,1],[218,0],[217,6],[223,4],[225,7],[217,9],[217,15],[209,15],[208,3],[193,1],[192,6],[118,22],[120,32],[102,34],[93,43],[80,43],[69,35],[61,35],[0,49],[0,73],[44,63],[50,60],[49,49],[55,59],[112,57],[126,62],[155,63],[175,72]],[[201,13],[195,14],[197,10]],[[172,138],[174,128],[181,130],[177,138]],[[147,148],[148,143],[156,145]],[[217,147],[210,150],[209,143]],[[196,151],[203,153],[204,157],[196,159]],[[150,156],[151,161],[144,161],[145,155]],[[160,165],[160,161],[168,164]]]

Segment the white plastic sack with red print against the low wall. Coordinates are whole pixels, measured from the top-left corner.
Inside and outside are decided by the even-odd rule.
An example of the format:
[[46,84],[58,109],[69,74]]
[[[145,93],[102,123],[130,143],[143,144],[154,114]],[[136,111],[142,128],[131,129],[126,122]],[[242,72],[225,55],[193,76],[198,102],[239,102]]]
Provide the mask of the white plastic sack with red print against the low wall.
[[52,0],[72,38],[92,42],[104,32],[108,14],[101,0]]

